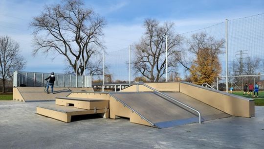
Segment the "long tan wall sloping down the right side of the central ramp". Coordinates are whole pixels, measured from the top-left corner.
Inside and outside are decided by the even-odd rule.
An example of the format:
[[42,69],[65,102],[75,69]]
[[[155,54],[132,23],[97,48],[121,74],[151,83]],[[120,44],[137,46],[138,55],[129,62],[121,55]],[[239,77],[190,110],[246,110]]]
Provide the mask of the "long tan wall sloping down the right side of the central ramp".
[[195,84],[180,82],[180,92],[204,102],[227,114],[239,117],[254,117],[254,100],[214,91]]

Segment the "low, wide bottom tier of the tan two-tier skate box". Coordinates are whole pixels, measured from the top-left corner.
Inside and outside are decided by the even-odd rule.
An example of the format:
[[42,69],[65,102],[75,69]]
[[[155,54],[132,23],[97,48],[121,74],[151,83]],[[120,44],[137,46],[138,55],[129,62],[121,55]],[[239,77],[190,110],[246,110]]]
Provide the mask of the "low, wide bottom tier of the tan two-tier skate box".
[[71,116],[100,114],[103,118],[109,118],[109,109],[85,110],[73,106],[61,106],[55,104],[44,104],[37,106],[37,113],[63,122],[70,122]]

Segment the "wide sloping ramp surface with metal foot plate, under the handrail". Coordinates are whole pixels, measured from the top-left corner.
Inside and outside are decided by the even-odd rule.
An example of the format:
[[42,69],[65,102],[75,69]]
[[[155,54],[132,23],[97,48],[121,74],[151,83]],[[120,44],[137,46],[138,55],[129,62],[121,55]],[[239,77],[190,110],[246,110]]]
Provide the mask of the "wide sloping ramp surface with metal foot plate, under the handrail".
[[[166,94],[197,109],[201,113],[203,121],[230,116],[180,92]],[[154,92],[110,93],[110,95],[124,104],[124,106],[139,113],[144,119],[154,124],[153,126],[159,128],[198,122],[197,113]],[[112,105],[111,100],[110,105]],[[116,116],[130,117],[120,112],[111,113],[112,111],[114,110],[111,110],[110,107],[110,118]]]

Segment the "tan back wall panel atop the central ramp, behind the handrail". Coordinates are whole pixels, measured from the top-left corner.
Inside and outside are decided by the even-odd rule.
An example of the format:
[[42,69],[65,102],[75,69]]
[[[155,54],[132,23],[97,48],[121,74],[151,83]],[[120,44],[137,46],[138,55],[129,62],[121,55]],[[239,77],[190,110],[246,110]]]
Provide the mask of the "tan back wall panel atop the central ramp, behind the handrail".
[[[165,83],[144,83],[160,92],[179,92],[179,82],[165,82]],[[140,92],[152,92],[153,90],[143,86],[138,86],[138,91]],[[136,92],[136,85],[127,87],[121,92]]]

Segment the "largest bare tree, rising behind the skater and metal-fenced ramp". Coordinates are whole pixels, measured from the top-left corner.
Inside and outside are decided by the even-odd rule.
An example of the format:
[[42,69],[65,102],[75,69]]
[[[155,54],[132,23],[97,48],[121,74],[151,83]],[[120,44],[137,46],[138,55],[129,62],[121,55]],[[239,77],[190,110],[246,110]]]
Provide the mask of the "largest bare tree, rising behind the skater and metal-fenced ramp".
[[[85,68],[90,75],[102,74],[101,61],[95,63],[92,57],[99,55],[99,50],[104,48],[100,40],[106,22],[92,9],[86,8],[82,0],[45,5],[41,15],[34,17],[30,25],[35,35],[33,54],[39,51],[62,54],[75,74],[82,75]],[[80,73],[76,72],[76,60],[80,63]]]

